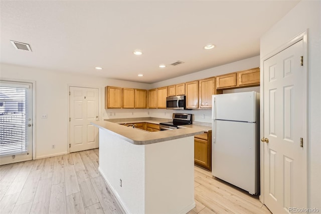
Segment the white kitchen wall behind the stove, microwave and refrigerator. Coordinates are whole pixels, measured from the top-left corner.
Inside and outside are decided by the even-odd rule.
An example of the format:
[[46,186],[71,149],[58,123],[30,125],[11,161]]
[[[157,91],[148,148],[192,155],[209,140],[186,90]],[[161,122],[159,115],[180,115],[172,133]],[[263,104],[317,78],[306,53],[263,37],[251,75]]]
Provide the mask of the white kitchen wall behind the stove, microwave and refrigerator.
[[[260,56],[251,57],[248,59],[232,62],[229,64],[221,65],[218,67],[202,70],[199,72],[187,74],[184,76],[168,79],[161,82],[156,82],[150,85],[151,88],[157,88],[157,87],[163,87],[168,85],[174,85],[179,84],[182,82],[188,82],[198,79],[204,79],[212,76],[218,76],[221,74],[226,73],[232,73],[236,71],[241,70],[247,70],[250,68],[255,68],[260,66]],[[233,89],[233,90],[224,90],[224,93],[230,93],[230,92],[241,92],[241,91],[257,91],[259,92],[259,87],[249,87],[249,88],[239,88],[239,89]],[[155,118],[169,118],[172,119],[173,113],[187,113],[187,114],[193,114],[193,121],[201,122],[201,123],[212,123],[211,117],[212,117],[212,111],[209,110],[166,110],[166,109],[154,109],[154,110],[148,110],[149,115],[148,117],[155,117]],[[203,119],[203,114],[205,118]]]

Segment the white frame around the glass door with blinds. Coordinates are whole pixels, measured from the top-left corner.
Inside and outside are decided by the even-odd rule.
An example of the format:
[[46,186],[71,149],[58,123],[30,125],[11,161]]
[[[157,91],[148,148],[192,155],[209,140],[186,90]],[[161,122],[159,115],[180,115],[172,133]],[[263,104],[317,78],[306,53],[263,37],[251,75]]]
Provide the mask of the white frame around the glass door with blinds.
[[3,81],[32,84],[32,160],[36,160],[36,81],[25,79],[1,79]]

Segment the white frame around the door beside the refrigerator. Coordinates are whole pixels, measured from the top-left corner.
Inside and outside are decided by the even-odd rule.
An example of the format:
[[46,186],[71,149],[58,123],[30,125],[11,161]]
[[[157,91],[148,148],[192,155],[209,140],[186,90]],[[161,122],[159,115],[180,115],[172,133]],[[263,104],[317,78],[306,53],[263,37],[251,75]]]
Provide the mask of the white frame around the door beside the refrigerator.
[[[263,106],[264,106],[264,61],[271,58],[272,56],[278,54],[279,52],[285,50],[286,48],[290,47],[291,45],[295,44],[296,42],[303,40],[303,79],[302,79],[302,84],[303,84],[303,111],[305,111],[305,114],[303,115],[303,151],[304,151],[304,163],[305,165],[305,177],[304,177],[304,185],[305,185],[305,192],[304,198],[306,199],[306,204],[307,204],[307,148],[309,146],[308,144],[308,138],[307,138],[307,132],[308,132],[308,126],[307,126],[307,115],[308,115],[308,109],[307,109],[307,77],[308,77],[308,63],[307,63],[307,58],[308,58],[308,29],[306,31],[298,34],[294,38],[290,39],[288,42],[284,43],[281,45],[279,48],[275,49],[271,53],[267,54],[266,56],[262,57],[260,59],[260,139],[263,138],[264,136],[264,112],[263,112]],[[259,195],[259,200],[264,204],[264,142],[260,141],[260,195]]]

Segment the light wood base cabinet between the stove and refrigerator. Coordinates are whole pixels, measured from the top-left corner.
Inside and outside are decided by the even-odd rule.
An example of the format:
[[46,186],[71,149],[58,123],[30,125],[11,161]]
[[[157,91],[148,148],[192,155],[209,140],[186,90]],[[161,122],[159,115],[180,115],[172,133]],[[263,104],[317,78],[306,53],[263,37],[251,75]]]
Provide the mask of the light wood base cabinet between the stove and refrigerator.
[[194,164],[212,170],[212,131],[194,137]]

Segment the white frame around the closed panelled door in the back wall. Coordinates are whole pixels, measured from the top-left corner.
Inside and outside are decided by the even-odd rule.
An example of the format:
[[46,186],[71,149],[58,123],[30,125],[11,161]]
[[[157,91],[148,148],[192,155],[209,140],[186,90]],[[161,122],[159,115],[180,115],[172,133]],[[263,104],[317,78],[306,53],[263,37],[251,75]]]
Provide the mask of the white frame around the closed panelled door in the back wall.
[[70,148],[69,148],[69,144],[70,144],[70,87],[80,87],[80,88],[95,88],[98,89],[98,117],[99,117],[99,121],[101,119],[101,87],[97,87],[97,86],[88,86],[88,85],[74,85],[74,84],[68,84],[67,85],[67,96],[68,96],[68,114],[67,114],[67,154],[70,153]]

